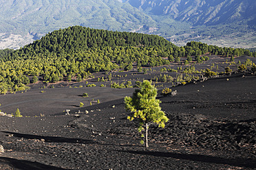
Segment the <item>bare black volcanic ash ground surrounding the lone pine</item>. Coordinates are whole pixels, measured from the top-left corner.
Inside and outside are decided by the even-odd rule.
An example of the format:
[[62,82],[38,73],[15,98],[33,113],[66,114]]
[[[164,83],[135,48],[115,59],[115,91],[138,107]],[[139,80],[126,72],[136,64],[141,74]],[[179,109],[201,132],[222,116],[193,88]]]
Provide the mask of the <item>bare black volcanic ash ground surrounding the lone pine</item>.
[[[255,84],[255,75],[237,73],[159,95],[170,120],[164,129],[149,128],[149,149],[140,145],[136,122],[127,120],[123,97],[134,88],[38,84],[0,96],[1,110],[19,108],[24,116],[0,117],[0,169],[256,169]],[[100,104],[89,106],[92,99]]]

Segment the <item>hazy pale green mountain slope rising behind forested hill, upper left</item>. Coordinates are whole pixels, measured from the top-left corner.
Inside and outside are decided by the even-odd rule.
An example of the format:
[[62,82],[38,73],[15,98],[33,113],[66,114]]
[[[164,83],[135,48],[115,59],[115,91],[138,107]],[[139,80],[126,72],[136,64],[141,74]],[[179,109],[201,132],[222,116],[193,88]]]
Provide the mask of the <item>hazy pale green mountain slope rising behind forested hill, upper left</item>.
[[135,32],[144,25],[156,25],[150,16],[118,0],[0,0],[1,33],[32,35],[41,38],[45,33],[72,25],[113,31]]

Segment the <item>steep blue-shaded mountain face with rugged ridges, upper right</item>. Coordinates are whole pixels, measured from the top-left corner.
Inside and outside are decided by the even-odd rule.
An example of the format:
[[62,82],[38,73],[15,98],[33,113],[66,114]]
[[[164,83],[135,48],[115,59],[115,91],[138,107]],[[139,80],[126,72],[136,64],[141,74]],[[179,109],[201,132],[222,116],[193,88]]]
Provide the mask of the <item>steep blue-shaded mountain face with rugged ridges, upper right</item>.
[[256,25],[255,0],[129,0],[134,7],[154,15],[168,15],[193,25],[248,21]]

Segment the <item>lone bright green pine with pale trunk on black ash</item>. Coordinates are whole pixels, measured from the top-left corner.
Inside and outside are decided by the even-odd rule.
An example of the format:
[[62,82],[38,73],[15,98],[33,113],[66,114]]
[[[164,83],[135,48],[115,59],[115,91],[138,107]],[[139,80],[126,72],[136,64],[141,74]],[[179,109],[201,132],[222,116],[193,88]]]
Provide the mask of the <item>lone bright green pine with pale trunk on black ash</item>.
[[169,121],[160,108],[160,100],[156,99],[157,89],[151,82],[145,80],[140,89],[136,89],[132,97],[125,97],[125,108],[134,113],[132,117],[127,117],[130,121],[138,119],[138,132],[145,130],[145,147],[149,147],[148,130],[149,125],[156,123],[159,127],[164,127],[164,123]]

